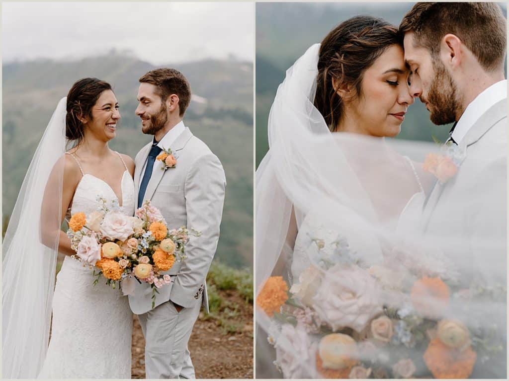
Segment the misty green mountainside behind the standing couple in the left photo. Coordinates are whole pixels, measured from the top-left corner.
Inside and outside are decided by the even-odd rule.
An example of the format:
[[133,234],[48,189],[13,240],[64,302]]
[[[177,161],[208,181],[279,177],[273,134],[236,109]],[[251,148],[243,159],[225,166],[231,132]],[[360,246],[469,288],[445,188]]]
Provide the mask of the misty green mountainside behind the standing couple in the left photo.
[[[180,70],[193,94],[184,123],[221,160],[227,193],[216,257],[235,268],[252,267],[252,63],[207,60],[169,64]],[[134,114],[138,78],[156,68],[112,51],[79,61],[39,60],[3,66],[3,219],[8,218],[32,155],[59,99],[82,77],[114,86],[122,120],[110,147],[134,158],[150,140]]]

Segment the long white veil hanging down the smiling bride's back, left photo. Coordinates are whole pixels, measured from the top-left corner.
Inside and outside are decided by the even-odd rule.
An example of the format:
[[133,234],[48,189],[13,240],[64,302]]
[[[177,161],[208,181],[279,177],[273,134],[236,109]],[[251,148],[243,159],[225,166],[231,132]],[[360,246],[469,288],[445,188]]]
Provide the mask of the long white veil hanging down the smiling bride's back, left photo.
[[56,106],[32,158],[3,241],[4,378],[37,377],[48,347],[68,143],[66,100]]

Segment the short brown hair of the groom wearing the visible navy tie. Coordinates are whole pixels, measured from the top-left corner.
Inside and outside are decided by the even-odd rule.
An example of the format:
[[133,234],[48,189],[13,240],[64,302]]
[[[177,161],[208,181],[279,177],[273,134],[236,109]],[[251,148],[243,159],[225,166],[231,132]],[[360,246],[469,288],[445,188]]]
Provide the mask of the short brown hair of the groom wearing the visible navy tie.
[[177,94],[179,97],[179,114],[183,116],[191,101],[191,86],[187,78],[180,71],[170,68],[160,68],[149,71],[139,78],[141,83],[152,83],[157,87],[157,95],[163,102],[169,95]]

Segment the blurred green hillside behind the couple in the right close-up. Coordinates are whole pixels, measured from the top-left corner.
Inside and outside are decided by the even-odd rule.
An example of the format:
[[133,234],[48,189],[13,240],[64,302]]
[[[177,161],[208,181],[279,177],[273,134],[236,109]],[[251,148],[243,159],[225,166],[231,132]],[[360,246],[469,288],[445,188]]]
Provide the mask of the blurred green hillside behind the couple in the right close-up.
[[[382,17],[398,25],[414,3],[257,3],[256,5],[256,165],[268,150],[267,120],[277,86],[306,49],[337,24],[356,15]],[[500,3],[503,13],[506,5]],[[405,115],[398,139],[445,140],[451,125],[435,126],[416,100]]]

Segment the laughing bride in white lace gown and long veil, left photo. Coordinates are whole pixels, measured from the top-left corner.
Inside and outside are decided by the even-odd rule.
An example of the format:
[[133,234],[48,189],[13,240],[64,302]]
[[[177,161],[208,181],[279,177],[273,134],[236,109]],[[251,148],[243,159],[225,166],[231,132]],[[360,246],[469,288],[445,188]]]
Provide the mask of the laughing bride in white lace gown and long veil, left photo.
[[[64,218],[97,210],[99,197],[134,214],[134,162],[108,147],[118,108],[109,83],[77,81],[32,159],[3,243],[4,378],[131,378],[128,300],[93,285],[60,229]],[[54,285],[57,253],[66,256]]]

